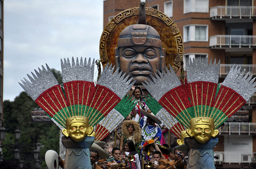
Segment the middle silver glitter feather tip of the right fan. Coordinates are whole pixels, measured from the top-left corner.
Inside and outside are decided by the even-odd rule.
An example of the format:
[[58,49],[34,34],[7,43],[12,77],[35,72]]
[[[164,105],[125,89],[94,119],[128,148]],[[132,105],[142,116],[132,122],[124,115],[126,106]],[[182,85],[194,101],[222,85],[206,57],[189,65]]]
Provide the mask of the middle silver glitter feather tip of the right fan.
[[218,83],[219,72],[220,72],[220,60],[217,65],[216,65],[216,59],[212,64],[212,58],[210,59],[209,64],[208,64],[208,58],[206,58],[205,60],[203,58],[201,64],[200,64],[200,59],[197,59],[197,63],[195,62],[195,58],[193,58],[193,63],[191,59],[189,63],[187,60],[188,83],[191,83],[194,81],[209,81],[213,83]]

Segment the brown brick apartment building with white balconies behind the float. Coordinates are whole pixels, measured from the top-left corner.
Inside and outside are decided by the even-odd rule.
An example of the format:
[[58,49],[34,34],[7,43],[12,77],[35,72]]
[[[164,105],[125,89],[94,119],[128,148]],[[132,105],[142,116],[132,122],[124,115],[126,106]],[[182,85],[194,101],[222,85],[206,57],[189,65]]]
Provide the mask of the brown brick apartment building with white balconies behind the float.
[[[139,0],[104,1],[103,26],[119,12],[138,7]],[[183,37],[186,58],[221,60],[220,82],[233,64],[256,75],[255,0],[146,0],[146,7],[168,15]],[[214,148],[216,167],[253,167],[256,163],[256,95],[245,104],[248,121],[225,123]],[[256,165],[254,166],[256,167]]]

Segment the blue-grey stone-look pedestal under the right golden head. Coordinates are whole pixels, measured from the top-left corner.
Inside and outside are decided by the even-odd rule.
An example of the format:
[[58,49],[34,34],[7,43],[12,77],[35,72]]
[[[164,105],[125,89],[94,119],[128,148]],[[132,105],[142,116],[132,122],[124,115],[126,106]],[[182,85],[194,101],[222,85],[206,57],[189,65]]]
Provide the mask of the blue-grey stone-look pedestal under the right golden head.
[[185,137],[184,143],[188,146],[189,169],[214,169],[213,148],[218,143],[218,138],[211,138],[207,143],[201,144],[194,138]]

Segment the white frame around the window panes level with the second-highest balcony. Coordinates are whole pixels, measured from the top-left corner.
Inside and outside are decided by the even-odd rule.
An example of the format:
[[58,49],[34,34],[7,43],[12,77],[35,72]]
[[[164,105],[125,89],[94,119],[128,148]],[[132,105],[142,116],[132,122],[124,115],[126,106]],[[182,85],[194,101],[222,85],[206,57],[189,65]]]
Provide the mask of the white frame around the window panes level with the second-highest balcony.
[[[196,40],[195,35],[196,35],[196,26],[206,26],[206,40]],[[187,39],[187,30],[186,27],[189,27],[189,39]],[[196,25],[196,24],[190,24],[190,25],[184,25],[183,26],[183,40],[184,42],[189,42],[189,41],[198,41],[198,42],[208,42],[208,25]]]

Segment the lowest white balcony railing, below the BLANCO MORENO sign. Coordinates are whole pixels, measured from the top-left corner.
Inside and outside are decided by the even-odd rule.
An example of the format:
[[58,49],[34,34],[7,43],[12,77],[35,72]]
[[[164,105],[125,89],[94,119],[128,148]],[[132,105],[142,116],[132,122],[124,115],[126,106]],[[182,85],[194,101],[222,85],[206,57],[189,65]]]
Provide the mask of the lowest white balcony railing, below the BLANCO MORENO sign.
[[214,156],[219,157],[219,159],[214,159],[215,163],[255,163],[255,152],[223,152],[215,151]]

